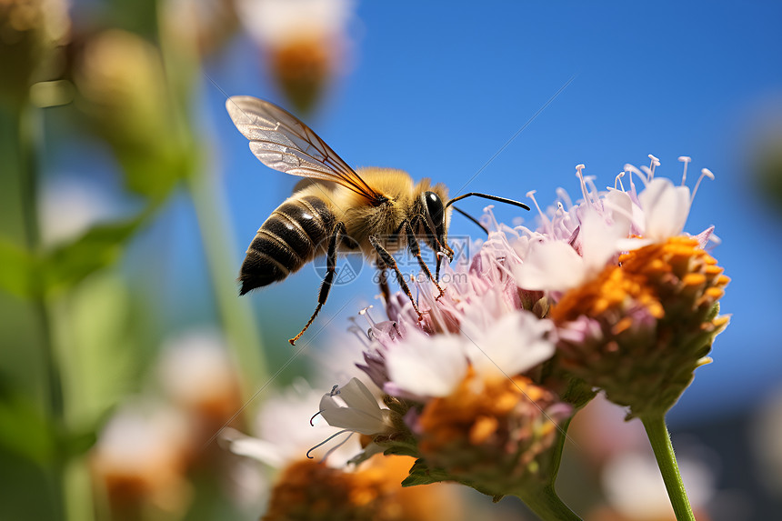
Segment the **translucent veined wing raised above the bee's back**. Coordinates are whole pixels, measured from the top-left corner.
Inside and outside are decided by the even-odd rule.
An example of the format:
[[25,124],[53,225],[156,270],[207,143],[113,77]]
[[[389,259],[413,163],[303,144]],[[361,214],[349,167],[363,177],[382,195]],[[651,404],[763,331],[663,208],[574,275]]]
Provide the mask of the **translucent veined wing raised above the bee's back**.
[[291,175],[333,181],[376,205],[384,200],[307,125],[285,109],[249,95],[226,100],[234,125],[264,165]]

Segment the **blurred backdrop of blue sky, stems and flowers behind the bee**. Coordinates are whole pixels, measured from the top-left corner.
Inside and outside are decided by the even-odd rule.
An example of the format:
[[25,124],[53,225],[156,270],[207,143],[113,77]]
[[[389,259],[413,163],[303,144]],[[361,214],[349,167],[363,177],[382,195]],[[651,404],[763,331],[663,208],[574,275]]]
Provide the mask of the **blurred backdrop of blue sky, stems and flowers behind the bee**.
[[[716,226],[732,319],[668,422],[698,519],[774,517],[780,19],[770,1],[0,3],[4,518],[257,518],[273,473],[212,436],[252,434],[297,376],[326,392],[327,349],[358,349],[350,317],[382,308],[364,266],[292,348],[312,266],[237,296],[246,246],[298,179],[249,152],[229,95],[285,106],[350,165],[452,195],[576,200],[576,165],[605,187],[649,154],[675,182],[691,156],[690,187],[710,169],[686,231]],[[494,212],[535,226],[516,210]],[[450,234],[480,230],[455,215]],[[643,429],[622,417],[599,401],[576,416],[558,489],[585,518],[665,519]],[[468,512],[524,516],[459,490]]]

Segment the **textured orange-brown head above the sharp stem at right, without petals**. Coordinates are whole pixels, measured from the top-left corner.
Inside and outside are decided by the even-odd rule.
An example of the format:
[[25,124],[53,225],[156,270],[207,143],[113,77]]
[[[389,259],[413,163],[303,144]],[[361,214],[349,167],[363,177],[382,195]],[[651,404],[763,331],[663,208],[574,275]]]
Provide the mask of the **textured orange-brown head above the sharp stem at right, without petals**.
[[631,416],[666,412],[727,326],[717,312],[729,281],[687,235],[620,255],[553,306],[567,331],[557,346],[562,366]]

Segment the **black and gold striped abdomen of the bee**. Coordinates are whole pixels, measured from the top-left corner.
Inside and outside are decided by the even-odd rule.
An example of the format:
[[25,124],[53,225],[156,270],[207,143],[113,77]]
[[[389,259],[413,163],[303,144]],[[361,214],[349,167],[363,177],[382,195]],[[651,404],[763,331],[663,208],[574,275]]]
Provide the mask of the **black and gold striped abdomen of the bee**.
[[326,245],[335,217],[326,203],[314,195],[288,199],[261,225],[247,248],[239,280],[239,295],[283,280]]

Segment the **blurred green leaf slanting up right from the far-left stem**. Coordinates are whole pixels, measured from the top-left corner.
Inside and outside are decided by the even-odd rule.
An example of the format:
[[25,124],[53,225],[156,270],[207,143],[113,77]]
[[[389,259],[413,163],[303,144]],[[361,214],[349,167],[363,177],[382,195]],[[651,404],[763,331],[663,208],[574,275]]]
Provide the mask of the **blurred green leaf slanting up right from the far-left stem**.
[[146,212],[125,222],[95,225],[74,242],[45,255],[40,263],[45,289],[67,289],[114,264],[145,216]]

